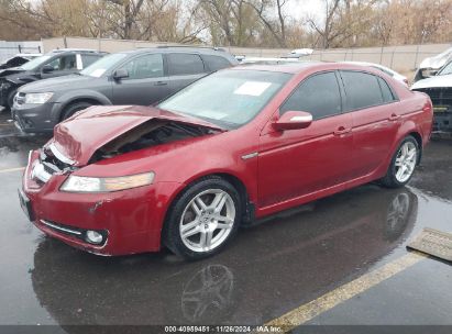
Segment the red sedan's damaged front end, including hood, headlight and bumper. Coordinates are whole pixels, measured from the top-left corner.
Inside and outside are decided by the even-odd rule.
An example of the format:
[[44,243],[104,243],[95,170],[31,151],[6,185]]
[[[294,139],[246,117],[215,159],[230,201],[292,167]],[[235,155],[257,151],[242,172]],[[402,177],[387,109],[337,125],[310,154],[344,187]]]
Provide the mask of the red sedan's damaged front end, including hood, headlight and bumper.
[[41,231],[100,255],[159,249],[162,203],[180,183],[153,182],[156,174],[146,157],[224,130],[152,108],[131,109],[81,111],[57,125],[44,147],[31,152],[19,192]]

